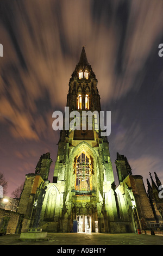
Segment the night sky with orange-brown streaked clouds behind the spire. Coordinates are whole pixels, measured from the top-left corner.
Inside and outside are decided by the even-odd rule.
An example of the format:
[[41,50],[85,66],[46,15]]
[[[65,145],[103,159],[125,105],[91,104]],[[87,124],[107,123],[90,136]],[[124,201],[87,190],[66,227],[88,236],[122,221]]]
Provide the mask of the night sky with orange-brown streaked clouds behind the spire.
[[116,153],[133,174],[156,172],[163,184],[163,2],[150,0],[1,0],[0,172],[8,196],[42,154],[51,153],[52,182],[68,82],[82,47],[98,80],[115,184]]

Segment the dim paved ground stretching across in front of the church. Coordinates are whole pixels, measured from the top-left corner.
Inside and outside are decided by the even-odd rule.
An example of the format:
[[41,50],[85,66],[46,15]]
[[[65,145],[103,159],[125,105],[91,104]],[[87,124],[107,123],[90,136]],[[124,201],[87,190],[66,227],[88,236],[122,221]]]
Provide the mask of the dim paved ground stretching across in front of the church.
[[0,237],[0,245],[163,245],[163,236],[139,234],[48,233],[48,241],[20,241],[20,234]]

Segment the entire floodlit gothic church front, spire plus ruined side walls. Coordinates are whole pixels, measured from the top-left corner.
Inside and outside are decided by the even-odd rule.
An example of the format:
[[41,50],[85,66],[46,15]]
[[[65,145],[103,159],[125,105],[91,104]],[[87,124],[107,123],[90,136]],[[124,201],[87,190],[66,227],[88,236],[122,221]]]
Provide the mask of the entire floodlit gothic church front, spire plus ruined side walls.
[[[83,47],[69,82],[70,112],[100,113],[97,82]],[[35,173],[26,175],[17,210],[23,216],[22,231],[33,227],[38,209],[39,227],[51,232],[135,233],[143,229],[142,223],[155,222],[142,176],[133,175],[127,158],[118,153],[115,186],[108,139],[101,136],[95,117],[92,123],[92,130],[81,125],[80,130],[60,131],[53,182],[48,181],[49,153],[40,157]]]

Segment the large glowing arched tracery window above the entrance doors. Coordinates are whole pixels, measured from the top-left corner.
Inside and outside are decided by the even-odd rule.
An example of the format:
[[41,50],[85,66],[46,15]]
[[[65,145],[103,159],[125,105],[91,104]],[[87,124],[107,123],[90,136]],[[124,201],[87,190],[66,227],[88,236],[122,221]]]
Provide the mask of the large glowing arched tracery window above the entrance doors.
[[76,159],[76,190],[91,191],[92,190],[92,163],[91,157],[85,152],[80,154]]

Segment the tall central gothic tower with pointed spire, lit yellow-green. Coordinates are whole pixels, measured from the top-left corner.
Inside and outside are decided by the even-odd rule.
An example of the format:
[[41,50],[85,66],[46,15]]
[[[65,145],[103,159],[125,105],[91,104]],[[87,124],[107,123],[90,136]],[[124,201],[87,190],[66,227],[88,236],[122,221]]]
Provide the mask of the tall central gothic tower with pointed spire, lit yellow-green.
[[[60,231],[73,230],[77,221],[78,231],[106,233],[110,229],[108,220],[118,218],[109,143],[101,136],[99,119],[96,118],[101,112],[97,82],[83,47],[70,78],[66,105],[69,112],[79,113],[76,123],[81,129],[60,132],[54,169],[53,182],[64,191]],[[95,115],[87,117],[83,129],[82,114],[88,111]],[[70,121],[73,118],[71,116]],[[92,130],[89,129],[91,122]]]

